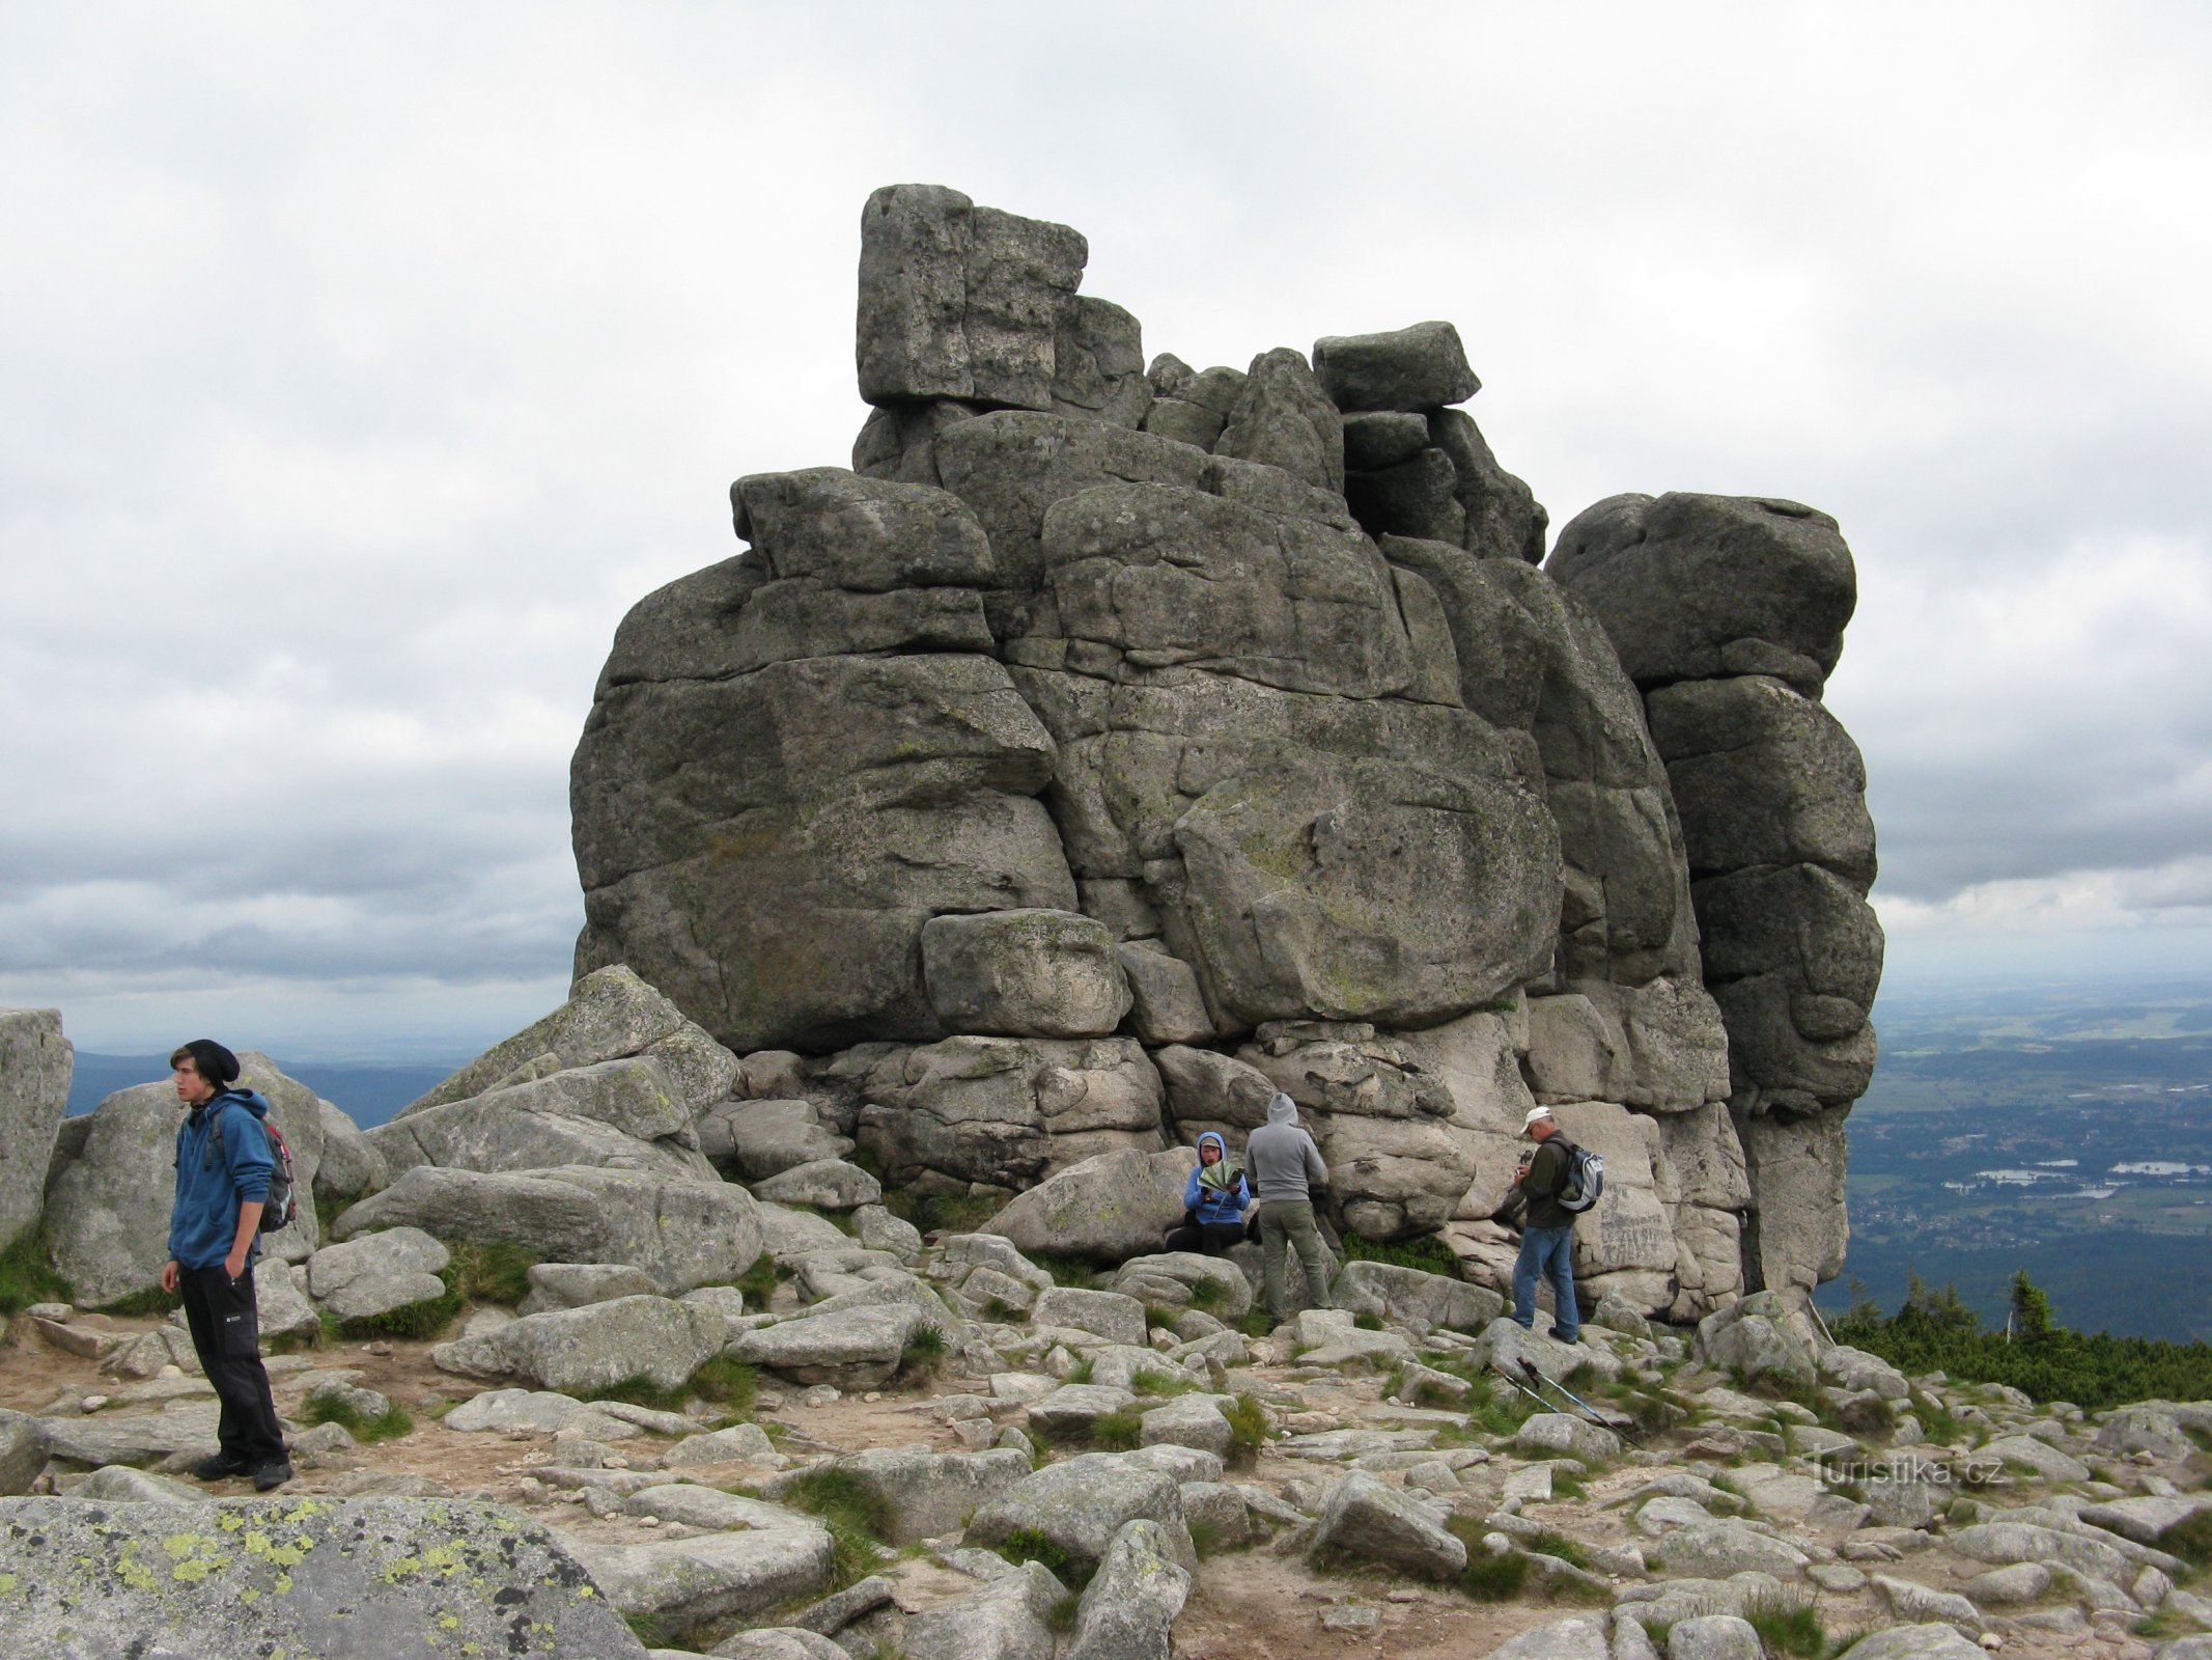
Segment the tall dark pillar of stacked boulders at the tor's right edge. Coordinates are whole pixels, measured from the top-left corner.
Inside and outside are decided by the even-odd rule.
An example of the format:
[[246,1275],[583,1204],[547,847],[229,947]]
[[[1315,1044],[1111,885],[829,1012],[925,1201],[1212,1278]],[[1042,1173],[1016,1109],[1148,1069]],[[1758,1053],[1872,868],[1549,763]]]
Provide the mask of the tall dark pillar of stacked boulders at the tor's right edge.
[[1796,502],[1615,496],[1562,529],[1546,569],[1644,691],[1728,1023],[1752,1275],[1809,1293],[1843,1268],[1843,1118],[1874,1076],[1882,974],[1867,777],[1820,704],[1851,553]]

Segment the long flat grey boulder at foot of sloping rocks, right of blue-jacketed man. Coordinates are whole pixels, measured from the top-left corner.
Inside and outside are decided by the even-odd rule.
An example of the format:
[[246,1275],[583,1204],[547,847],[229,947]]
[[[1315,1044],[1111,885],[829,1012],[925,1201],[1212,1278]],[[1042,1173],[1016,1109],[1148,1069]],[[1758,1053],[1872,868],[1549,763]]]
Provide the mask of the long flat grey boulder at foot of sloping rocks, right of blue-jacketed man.
[[728,1284],[761,1255],[745,1189],[588,1166],[489,1175],[425,1164],[345,1211],[332,1235],[394,1226],[458,1244],[513,1242],[546,1262],[626,1262],[666,1295]]

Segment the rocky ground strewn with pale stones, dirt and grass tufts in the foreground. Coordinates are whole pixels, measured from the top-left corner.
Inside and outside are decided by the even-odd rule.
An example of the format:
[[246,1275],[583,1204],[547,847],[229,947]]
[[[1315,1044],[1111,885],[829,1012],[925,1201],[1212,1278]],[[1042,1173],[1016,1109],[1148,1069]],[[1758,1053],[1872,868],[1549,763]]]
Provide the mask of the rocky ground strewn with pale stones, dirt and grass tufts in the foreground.
[[[1907,1379],[1856,1350],[1816,1355],[1770,1295],[1694,1332],[1613,1308],[1613,1326],[1568,1348],[1486,1321],[1489,1293],[1367,1262],[1338,1279],[1345,1308],[1248,1337],[1250,1288],[1221,1262],[1148,1257],[1060,1286],[993,1235],[860,1251],[825,1244],[816,1222],[770,1206],[783,1279],[754,1313],[732,1288],[522,1319],[484,1306],[449,1341],[270,1357],[299,1465],[274,1501],[181,1474],[212,1448],[215,1408],[186,1368],[148,1366],[148,1343],[170,1348],[157,1319],[18,1315],[0,1346],[0,1476],[53,1498],[0,1501],[9,1653],[111,1651],[29,1640],[55,1616],[40,1585],[80,1616],[113,1594],[97,1618],[117,1631],[153,1618],[128,1587],[55,1589],[40,1552],[93,1514],[122,1558],[133,1529],[175,1556],[197,1536],[179,1532],[186,1516],[246,1538],[279,1521],[312,1532],[312,1516],[352,1516],[358,1536],[372,1516],[407,1549],[385,1589],[436,1580],[440,1540],[469,1549],[471,1529],[526,1518],[546,1560],[577,1565],[577,1587],[588,1576],[577,1594],[602,1598],[591,1640],[562,1636],[582,1616],[549,1609],[533,1627],[546,1653],[1241,1660],[1509,1645],[1515,1660],[1752,1660],[1856,1633],[1878,1633],[1860,1645],[1874,1660],[2212,1647],[2192,1638],[2212,1631],[2212,1600],[2188,1589],[2190,1523],[2212,1507],[2212,1403],[2084,1414]],[[719,1355],[759,1379],[750,1405],[723,1359],[697,1374],[739,1383],[721,1403],[546,1386],[646,1341],[639,1321],[666,1317],[648,1306],[719,1321]],[[482,1372],[495,1343],[507,1377],[456,1370]],[[644,1372],[650,1357],[615,1359]],[[1568,1379],[1593,1412],[1528,1368]],[[343,1428],[392,1405],[405,1434]],[[327,1558],[290,1571],[305,1580]],[[175,1578],[199,1560],[186,1554]],[[215,1583],[265,1571],[206,1563]],[[498,1574],[476,1585],[478,1600],[500,1594]],[[476,1616],[440,1618],[460,1633]],[[456,1636],[451,1651],[469,1649]]]

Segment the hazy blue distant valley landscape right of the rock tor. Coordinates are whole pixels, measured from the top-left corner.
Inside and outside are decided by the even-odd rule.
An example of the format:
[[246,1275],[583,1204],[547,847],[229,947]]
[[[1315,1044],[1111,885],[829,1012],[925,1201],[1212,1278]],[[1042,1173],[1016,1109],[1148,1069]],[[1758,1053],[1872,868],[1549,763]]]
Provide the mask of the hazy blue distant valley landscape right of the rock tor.
[[2212,978],[1885,987],[1876,1027],[1825,1310],[1918,1275],[2002,1328],[2026,1268],[2073,1330],[2212,1337]]

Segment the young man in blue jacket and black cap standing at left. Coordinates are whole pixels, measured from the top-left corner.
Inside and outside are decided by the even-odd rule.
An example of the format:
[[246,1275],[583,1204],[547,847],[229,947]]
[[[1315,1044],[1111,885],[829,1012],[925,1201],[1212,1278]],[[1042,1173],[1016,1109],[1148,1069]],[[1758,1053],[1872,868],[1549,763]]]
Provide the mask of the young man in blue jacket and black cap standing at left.
[[168,1213],[161,1290],[181,1293],[192,1352],[223,1403],[219,1452],[192,1465],[201,1481],[252,1476],[270,1492],[292,1479],[276,1423],[270,1374],[261,1366],[261,1310],[254,1301],[254,1246],[268,1200],[270,1155],[261,1120],[270,1104],[237,1089],[239,1058],[210,1038],[192,1038],[168,1058],[177,1100],[177,1200]]

